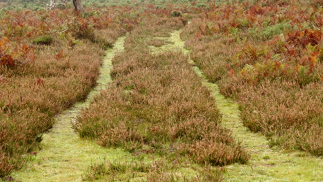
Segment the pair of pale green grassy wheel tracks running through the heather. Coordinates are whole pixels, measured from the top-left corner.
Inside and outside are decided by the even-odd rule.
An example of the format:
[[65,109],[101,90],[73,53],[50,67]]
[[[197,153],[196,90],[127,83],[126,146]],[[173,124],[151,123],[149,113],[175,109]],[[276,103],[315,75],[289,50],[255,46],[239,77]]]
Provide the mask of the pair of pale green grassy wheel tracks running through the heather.
[[[181,30],[165,38],[168,43],[160,48],[152,48],[153,52],[165,50],[180,50],[185,54],[184,41],[180,39]],[[110,83],[111,59],[116,52],[124,49],[124,39],[121,37],[115,47],[107,51],[97,87],[90,92],[88,99],[76,103],[72,108],[57,116],[56,124],[50,132],[43,135],[42,150],[33,156],[26,168],[14,172],[11,176],[18,181],[81,181],[81,176],[92,163],[97,161],[131,161],[133,156],[121,149],[102,148],[92,141],[79,139],[72,129],[72,122],[100,90]],[[284,152],[271,149],[268,141],[261,134],[250,132],[239,118],[238,105],[226,99],[219,93],[218,86],[209,83],[195,63],[190,60],[193,70],[202,77],[203,84],[209,88],[216,99],[217,107],[223,114],[222,125],[233,131],[236,141],[251,154],[251,160],[246,165],[228,165],[225,174],[226,181],[323,181],[323,160],[309,156],[303,152]]]

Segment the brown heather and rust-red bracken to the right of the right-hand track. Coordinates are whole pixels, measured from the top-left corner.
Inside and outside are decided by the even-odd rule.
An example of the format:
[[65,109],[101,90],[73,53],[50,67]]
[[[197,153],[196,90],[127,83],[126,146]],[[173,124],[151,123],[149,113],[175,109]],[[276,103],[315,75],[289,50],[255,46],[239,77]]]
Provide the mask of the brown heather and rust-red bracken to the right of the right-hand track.
[[[322,32],[315,30],[322,23],[322,11],[315,7],[302,6],[313,12],[312,19],[305,19],[309,12],[302,11],[297,1],[224,5],[193,19],[181,36],[209,81],[239,103],[244,125],[268,136],[271,145],[322,156]],[[280,21],[271,16],[282,12]],[[244,19],[244,13],[254,16],[253,21]],[[269,17],[270,25],[258,24]],[[302,22],[313,29],[281,28],[277,22],[285,18],[291,25]],[[253,30],[258,32],[252,34]]]

